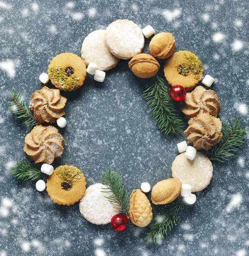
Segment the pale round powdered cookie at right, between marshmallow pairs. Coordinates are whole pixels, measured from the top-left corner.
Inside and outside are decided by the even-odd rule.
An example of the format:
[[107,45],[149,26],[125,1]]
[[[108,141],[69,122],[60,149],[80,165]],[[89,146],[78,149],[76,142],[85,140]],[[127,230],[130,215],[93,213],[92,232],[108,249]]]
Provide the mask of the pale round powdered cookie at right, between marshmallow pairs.
[[197,152],[194,160],[188,160],[185,152],[172,163],[172,177],[179,178],[182,184],[191,185],[191,192],[205,189],[213,177],[213,166],[208,157]]

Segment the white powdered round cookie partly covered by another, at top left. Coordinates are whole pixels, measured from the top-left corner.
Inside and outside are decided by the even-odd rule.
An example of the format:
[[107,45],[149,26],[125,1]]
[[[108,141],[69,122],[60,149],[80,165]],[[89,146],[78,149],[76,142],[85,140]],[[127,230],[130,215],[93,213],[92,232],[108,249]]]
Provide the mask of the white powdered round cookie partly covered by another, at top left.
[[108,50],[104,35],[104,29],[93,31],[87,35],[81,47],[81,58],[87,66],[93,62],[97,65],[98,70],[107,71],[116,67],[119,58]]

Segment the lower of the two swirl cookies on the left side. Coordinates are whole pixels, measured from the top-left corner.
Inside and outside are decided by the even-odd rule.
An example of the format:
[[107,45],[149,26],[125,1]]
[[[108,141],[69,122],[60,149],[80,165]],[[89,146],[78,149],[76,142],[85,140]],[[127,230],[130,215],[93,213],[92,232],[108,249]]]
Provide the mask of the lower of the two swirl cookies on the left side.
[[51,164],[55,157],[61,157],[65,140],[54,126],[36,125],[26,135],[23,150],[35,163]]

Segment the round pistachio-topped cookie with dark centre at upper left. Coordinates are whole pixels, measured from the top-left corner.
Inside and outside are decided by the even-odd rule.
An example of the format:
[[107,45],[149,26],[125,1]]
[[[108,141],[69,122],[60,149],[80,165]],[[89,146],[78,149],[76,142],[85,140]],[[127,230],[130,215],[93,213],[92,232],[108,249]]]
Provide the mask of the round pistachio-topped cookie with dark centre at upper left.
[[84,61],[73,53],[61,53],[50,61],[48,75],[51,83],[64,91],[76,90],[84,83],[87,67]]

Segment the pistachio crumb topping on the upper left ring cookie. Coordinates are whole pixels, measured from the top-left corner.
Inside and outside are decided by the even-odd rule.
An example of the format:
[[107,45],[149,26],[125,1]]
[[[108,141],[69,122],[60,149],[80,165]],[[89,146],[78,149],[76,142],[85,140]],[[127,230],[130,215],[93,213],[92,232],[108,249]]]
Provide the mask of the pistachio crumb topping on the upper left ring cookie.
[[74,74],[68,76],[64,68],[56,66],[49,70],[49,78],[62,89],[75,90],[80,87],[79,78]]

